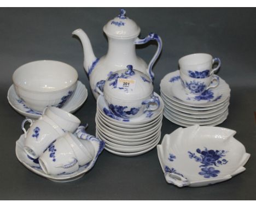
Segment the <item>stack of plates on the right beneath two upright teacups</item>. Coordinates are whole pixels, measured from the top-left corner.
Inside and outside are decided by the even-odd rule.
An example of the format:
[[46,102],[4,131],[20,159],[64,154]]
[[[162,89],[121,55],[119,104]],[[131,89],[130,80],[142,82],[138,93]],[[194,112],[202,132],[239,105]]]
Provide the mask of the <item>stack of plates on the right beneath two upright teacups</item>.
[[164,116],[174,124],[216,126],[228,117],[229,85],[219,76],[219,85],[201,95],[190,95],[182,86],[179,70],[167,74],[160,83],[165,103]]

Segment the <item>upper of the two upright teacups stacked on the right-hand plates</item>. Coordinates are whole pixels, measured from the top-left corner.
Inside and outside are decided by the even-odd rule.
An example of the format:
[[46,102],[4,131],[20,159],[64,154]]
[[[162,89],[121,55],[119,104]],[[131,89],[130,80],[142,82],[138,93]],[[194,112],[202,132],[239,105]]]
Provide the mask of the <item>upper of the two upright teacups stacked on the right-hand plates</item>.
[[[212,68],[213,64],[218,63],[216,68]],[[207,53],[194,53],[179,59],[179,67],[184,75],[191,78],[210,77],[220,68],[221,62],[219,58],[213,58]]]

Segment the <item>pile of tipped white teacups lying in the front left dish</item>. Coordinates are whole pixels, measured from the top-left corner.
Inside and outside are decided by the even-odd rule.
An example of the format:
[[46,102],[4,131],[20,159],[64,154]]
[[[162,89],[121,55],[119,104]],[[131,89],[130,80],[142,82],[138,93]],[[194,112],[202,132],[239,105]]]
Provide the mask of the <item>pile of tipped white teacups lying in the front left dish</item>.
[[[30,128],[25,130],[25,123]],[[88,140],[74,136],[80,120],[63,109],[48,107],[38,120],[25,119],[22,130],[25,133],[24,151],[36,159],[47,175],[74,173],[95,155],[94,146]]]

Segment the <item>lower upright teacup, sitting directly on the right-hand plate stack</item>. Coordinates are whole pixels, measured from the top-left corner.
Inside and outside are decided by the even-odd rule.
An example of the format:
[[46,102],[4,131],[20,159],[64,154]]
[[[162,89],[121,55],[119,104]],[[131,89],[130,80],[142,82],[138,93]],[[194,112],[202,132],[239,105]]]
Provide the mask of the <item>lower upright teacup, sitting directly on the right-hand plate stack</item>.
[[215,75],[206,78],[191,78],[180,71],[180,76],[182,86],[188,94],[201,95],[204,91],[219,85],[219,78]]

